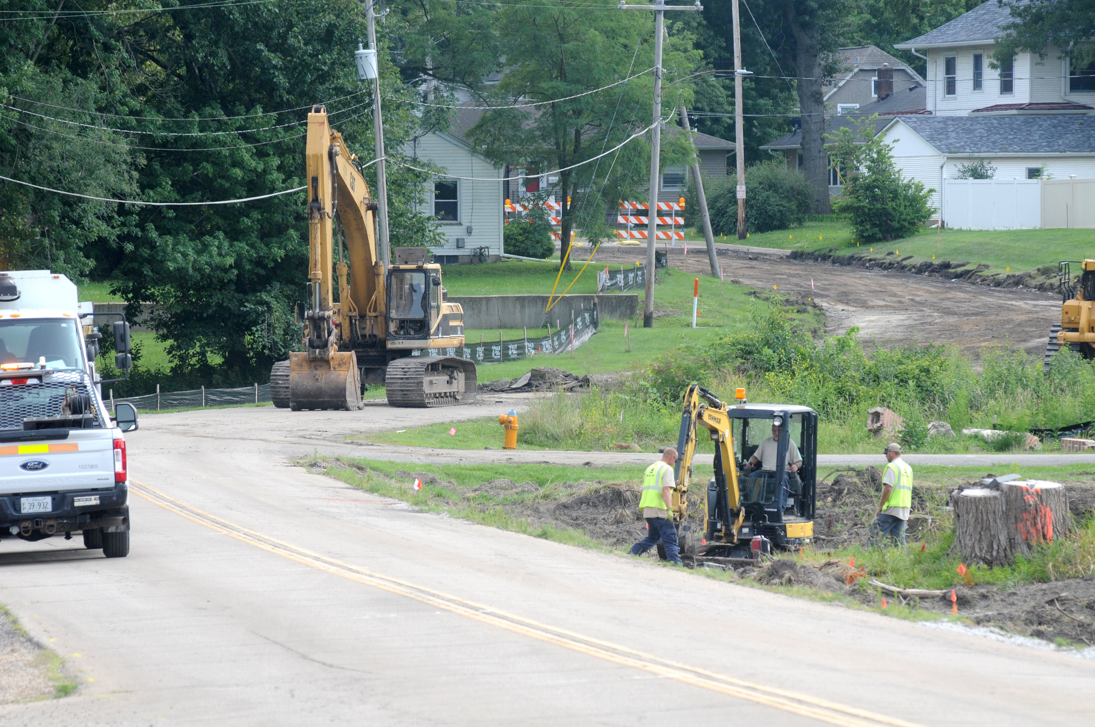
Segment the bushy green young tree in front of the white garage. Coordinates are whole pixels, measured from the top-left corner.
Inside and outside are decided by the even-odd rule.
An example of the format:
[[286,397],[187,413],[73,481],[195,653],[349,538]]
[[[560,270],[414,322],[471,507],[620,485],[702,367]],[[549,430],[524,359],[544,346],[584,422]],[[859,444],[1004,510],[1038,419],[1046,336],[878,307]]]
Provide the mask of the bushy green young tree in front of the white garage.
[[908,238],[933,211],[927,205],[933,191],[901,176],[892,148],[875,134],[876,118],[854,120],[829,137],[833,158],[848,171],[838,211],[851,217],[861,242]]

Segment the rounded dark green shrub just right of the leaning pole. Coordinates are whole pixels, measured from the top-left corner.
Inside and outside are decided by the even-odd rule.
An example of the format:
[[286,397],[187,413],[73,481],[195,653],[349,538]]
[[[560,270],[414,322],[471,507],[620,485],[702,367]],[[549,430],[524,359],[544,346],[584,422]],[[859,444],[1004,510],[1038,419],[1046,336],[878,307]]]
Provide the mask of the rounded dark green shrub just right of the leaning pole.
[[[728,177],[728,182],[704,189],[707,193],[711,228],[715,234],[738,232],[737,175]],[[814,211],[814,188],[802,173],[788,170],[786,162],[772,160],[753,164],[746,171],[746,227],[749,232],[797,227]],[[699,216],[695,218],[699,222]]]

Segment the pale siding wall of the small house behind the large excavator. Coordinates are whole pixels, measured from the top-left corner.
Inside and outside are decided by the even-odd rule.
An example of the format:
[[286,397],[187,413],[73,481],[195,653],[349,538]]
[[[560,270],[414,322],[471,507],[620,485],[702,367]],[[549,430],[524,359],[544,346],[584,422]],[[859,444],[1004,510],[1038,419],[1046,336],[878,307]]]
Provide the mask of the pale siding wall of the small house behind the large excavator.
[[[491,255],[502,254],[503,230],[503,170],[485,158],[472,152],[456,139],[440,134],[427,134],[404,148],[404,153],[430,162],[449,174],[465,177],[497,177],[498,181],[459,180],[460,220],[437,222],[448,240],[443,247],[435,247],[440,254],[454,255],[457,238],[464,239],[464,250],[460,254],[471,254],[472,250],[489,247]],[[426,189],[425,203],[420,211],[433,215],[434,187]],[[472,228],[469,234],[468,228]],[[392,241],[397,246],[397,241]]]

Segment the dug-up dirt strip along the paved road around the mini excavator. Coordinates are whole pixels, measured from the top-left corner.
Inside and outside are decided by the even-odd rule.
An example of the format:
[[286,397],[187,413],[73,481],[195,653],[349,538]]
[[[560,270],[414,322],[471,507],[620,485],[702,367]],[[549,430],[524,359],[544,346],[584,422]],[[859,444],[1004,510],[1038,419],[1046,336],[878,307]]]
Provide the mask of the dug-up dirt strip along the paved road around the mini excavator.
[[[391,476],[370,471],[353,460],[312,462],[311,469],[326,471],[328,466],[349,466],[368,474],[373,481],[396,488],[407,488],[415,480],[436,487],[441,497],[451,498],[453,510],[471,508],[481,512],[502,511],[512,520],[527,523],[530,532],[550,527],[577,531],[600,545],[624,551],[646,534],[638,504],[636,483],[568,482],[541,489],[535,483],[492,480],[474,487],[461,487],[439,480],[429,472],[395,471]],[[815,518],[816,543],[812,557],[800,558],[777,552],[759,567],[731,567],[718,558],[685,557],[693,567],[717,568],[724,577],[745,584],[808,589],[825,597],[837,596],[867,608],[879,608],[883,597],[887,605],[908,605],[933,614],[948,614],[957,607],[958,614],[978,626],[1002,630],[1012,634],[1044,641],[1065,639],[1076,645],[1095,645],[1095,577],[1064,579],[1052,582],[1000,587],[977,585],[956,586],[955,601],[950,589],[930,596],[902,595],[873,586],[871,576],[861,567],[850,565],[845,557],[835,557],[841,546],[866,544],[880,491],[881,473],[875,468],[834,470],[818,484],[818,511]],[[360,482],[354,483],[362,486]],[[367,486],[366,486],[367,487]],[[391,492],[391,491],[388,491]],[[950,528],[946,508],[948,492],[938,486],[918,486],[913,491],[913,512],[908,538],[919,544],[930,533]],[[1095,487],[1070,486],[1070,509],[1075,518],[1088,517],[1095,509]],[[703,522],[702,495],[689,503],[689,520]],[[832,552],[833,557],[820,561]],[[654,558],[654,551],[646,557]],[[886,584],[894,587],[910,584]]]

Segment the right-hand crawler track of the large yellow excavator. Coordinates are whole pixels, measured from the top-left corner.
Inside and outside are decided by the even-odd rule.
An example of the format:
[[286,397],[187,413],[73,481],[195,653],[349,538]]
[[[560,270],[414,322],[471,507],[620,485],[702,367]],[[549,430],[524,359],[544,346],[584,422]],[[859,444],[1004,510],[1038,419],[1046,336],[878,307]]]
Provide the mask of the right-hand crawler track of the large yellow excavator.
[[454,356],[407,356],[384,374],[388,404],[407,408],[452,406],[475,401],[475,365]]

